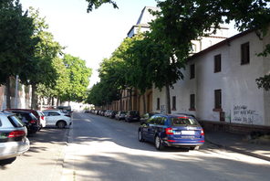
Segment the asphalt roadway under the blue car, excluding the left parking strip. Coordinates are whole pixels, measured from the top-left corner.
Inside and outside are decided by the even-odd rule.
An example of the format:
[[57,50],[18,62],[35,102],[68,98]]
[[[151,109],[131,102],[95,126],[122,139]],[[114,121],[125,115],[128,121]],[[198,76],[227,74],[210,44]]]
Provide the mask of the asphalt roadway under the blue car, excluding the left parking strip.
[[137,140],[138,123],[73,114],[62,181],[268,181],[270,163],[204,144],[156,151]]

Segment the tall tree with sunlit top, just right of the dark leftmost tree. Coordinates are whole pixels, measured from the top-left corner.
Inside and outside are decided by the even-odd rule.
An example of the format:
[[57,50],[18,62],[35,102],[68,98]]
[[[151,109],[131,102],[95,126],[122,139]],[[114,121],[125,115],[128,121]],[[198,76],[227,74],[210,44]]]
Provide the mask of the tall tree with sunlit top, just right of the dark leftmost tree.
[[33,38],[38,38],[39,42],[35,47],[33,58],[23,66],[25,71],[20,74],[20,80],[32,86],[31,108],[37,109],[37,86],[43,84],[45,87],[52,88],[56,85],[58,74],[53,61],[61,54],[63,48],[54,40],[53,35],[46,31],[48,26],[45,18],[39,17],[39,12],[33,8],[30,8],[30,14],[35,26]]

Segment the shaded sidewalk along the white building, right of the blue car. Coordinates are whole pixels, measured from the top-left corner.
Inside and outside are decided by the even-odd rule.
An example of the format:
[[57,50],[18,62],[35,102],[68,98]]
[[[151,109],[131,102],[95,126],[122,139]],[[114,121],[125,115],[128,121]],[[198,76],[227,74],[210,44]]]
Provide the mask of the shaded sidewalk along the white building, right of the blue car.
[[247,135],[224,132],[206,132],[205,140],[221,148],[270,162],[270,140],[259,142],[248,139]]

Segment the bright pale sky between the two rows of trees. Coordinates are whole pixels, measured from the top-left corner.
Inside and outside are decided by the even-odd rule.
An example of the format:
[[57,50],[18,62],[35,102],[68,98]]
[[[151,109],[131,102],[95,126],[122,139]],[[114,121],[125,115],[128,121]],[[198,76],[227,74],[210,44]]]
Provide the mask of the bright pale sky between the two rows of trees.
[[101,5],[87,13],[85,0],[20,0],[26,10],[29,6],[46,17],[55,40],[67,47],[64,52],[84,59],[93,73],[91,87],[99,81],[99,63],[109,58],[137,23],[144,6],[156,6],[155,0],[116,0],[119,9]]

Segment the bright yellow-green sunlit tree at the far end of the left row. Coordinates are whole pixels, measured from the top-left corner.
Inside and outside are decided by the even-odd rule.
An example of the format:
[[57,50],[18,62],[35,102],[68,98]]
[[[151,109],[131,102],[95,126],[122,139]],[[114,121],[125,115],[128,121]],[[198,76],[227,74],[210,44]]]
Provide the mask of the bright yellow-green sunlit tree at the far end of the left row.
[[61,97],[62,101],[84,101],[87,97],[87,88],[91,69],[86,67],[83,59],[73,57],[69,54],[64,55],[63,59],[68,71],[68,89]]

